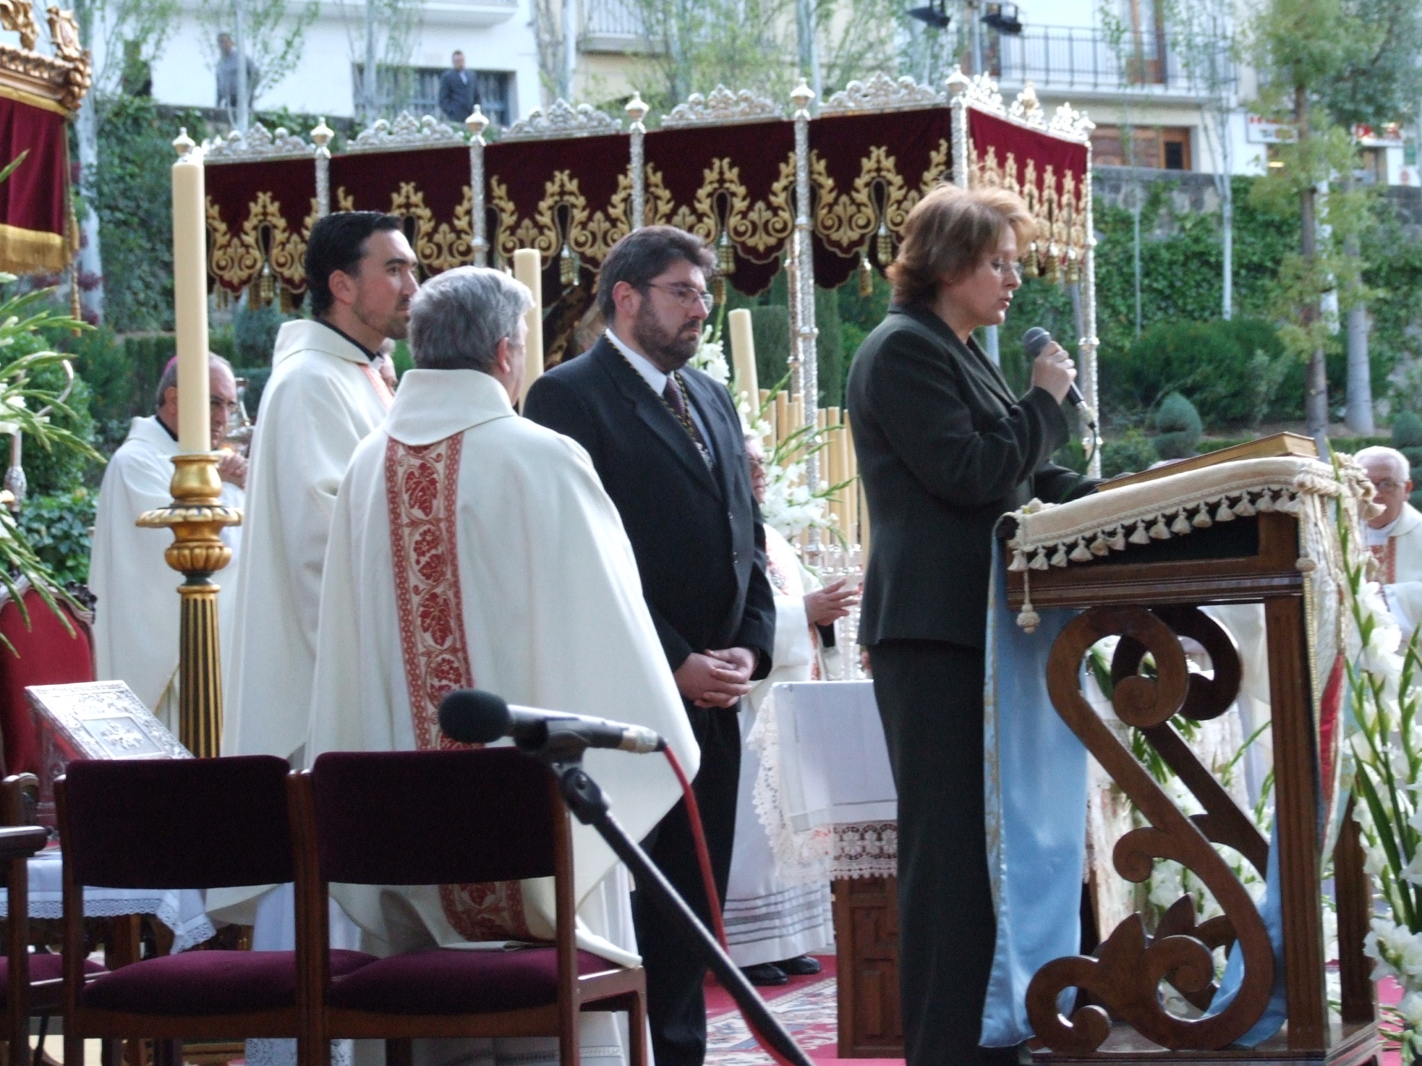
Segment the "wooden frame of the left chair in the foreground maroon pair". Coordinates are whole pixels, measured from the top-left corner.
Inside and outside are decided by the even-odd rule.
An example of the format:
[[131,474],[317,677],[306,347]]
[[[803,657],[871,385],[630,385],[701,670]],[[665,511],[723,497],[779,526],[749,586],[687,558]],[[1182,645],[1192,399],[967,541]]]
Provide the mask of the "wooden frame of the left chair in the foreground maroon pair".
[[[68,803],[65,779],[54,782],[58,809],[60,839],[68,837]],[[301,898],[297,895],[297,925],[303,921]],[[296,955],[296,1003],[277,1011],[252,1011],[220,1015],[142,1015],[127,1011],[100,1011],[80,1003],[84,982],[84,885],[78,883],[74,864],[64,863],[64,1066],[84,1066],[84,1040],[104,1040],[104,1062],[117,1066],[122,1040],[151,1039],[154,1066],[182,1066],[183,1040],[296,1039],[297,1062],[309,1066],[304,1046],[310,1009],[306,1003],[307,985],[301,981],[301,957]]]

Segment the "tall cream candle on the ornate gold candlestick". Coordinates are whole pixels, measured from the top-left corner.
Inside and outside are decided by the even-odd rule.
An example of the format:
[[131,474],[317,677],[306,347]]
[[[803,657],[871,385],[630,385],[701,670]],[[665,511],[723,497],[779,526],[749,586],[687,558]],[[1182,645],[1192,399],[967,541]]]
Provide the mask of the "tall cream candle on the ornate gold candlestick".
[[212,451],[208,411],[208,226],[202,156],[188,131],[173,141],[173,327],[178,334],[178,451]]

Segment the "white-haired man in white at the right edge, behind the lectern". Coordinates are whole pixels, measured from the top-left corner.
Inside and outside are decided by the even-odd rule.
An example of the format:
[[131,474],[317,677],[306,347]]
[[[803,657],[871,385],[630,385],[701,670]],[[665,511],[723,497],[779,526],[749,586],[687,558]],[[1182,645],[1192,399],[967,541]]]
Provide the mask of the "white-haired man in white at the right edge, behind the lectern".
[[1412,465],[1395,448],[1364,448],[1355,458],[1372,482],[1374,503],[1382,506],[1367,527],[1375,580],[1406,638],[1422,624],[1422,513],[1408,503]]

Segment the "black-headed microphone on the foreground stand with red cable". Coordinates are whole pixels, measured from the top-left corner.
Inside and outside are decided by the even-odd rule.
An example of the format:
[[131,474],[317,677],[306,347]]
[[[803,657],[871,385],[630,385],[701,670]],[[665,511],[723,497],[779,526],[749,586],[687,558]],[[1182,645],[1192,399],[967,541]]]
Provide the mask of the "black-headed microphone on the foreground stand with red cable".
[[562,711],[510,706],[502,696],[478,688],[456,688],[439,701],[439,729],[459,743],[489,743],[512,736],[519,750],[543,753],[563,749],[613,748],[623,752],[660,752],[667,746],[651,729]]

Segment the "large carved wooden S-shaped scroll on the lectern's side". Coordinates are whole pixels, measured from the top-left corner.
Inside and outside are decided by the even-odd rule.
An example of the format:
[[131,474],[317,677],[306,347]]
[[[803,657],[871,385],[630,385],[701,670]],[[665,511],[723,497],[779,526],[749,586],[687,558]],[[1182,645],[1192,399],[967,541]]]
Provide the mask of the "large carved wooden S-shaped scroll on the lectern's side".
[[[1206,647],[1216,667],[1213,681],[1189,672],[1177,634],[1190,635]],[[1170,802],[1082,695],[1082,657],[1096,641],[1112,635],[1122,638],[1112,664],[1116,678],[1112,706],[1121,721],[1146,733],[1196,793],[1206,809],[1199,820],[1186,817]],[[1146,652],[1155,658],[1155,678],[1135,672]],[[1239,849],[1260,870],[1267,844],[1169,725],[1180,712],[1212,718],[1229,706],[1239,689],[1233,641],[1194,608],[1152,613],[1142,607],[1094,607],[1058,635],[1047,667],[1047,688],[1062,721],[1150,823],[1116,841],[1112,857],[1121,876],[1139,883],[1150,876],[1155,860],[1177,861],[1204,883],[1224,915],[1196,925],[1186,898],[1167,911],[1153,938],[1146,935],[1140,917],[1132,915],[1112,931],[1098,958],[1074,955],[1048,962],[1027,992],[1032,1029],[1055,1052],[1091,1053],[1109,1033],[1109,1011],[1111,1016],[1167,1049],[1212,1050],[1233,1043],[1249,1032],[1268,1003],[1274,957],[1254,901],[1210,840]],[[1243,952],[1244,981],[1229,1006],[1213,1016],[1194,1019],[1167,1012],[1159,995],[1162,981],[1169,981],[1196,1006],[1209,1005],[1214,994],[1210,949],[1231,940]],[[1058,999],[1068,988],[1091,992],[1105,1009],[1084,1006],[1064,1018]]]

